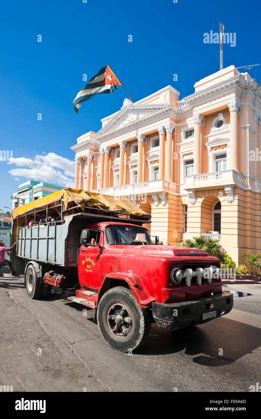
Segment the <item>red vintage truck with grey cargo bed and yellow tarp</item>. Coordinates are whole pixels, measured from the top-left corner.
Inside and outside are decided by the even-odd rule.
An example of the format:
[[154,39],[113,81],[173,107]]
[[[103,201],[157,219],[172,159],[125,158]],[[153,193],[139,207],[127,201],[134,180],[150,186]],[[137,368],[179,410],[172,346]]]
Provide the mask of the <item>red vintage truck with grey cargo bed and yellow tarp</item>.
[[[21,227],[43,211],[57,211],[61,220]],[[99,331],[114,349],[141,347],[151,323],[178,330],[232,309],[219,259],[159,245],[157,237],[153,244],[144,227],[150,216],[129,200],[65,188],[14,209],[12,217],[13,264],[24,274],[28,296],[70,291],[68,300],[96,310]]]

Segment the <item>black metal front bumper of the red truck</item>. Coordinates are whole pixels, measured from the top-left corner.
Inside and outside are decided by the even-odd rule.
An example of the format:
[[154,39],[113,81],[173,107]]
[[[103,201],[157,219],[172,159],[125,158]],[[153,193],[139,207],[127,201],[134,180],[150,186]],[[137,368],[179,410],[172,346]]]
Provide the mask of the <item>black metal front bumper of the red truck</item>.
[[[211,306],[212,305],[212,306]],[[233,295],[222,292],[219,295],[199,298],[181,303],[152,303],[152,314],[159,327],[178,330],[196,324],[206,323],[215,317],[203,320],[204,313],[217,312],[217,317],[227,314],[233,307]]]

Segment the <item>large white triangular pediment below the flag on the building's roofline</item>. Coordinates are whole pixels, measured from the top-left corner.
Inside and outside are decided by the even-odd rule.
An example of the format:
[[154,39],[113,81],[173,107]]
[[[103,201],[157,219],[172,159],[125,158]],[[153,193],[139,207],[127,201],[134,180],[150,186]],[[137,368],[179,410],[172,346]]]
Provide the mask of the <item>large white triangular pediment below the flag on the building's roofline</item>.
[[170,103],[155,104],[155,105],[135,105],[135,103],[126,103],[120,111],[95,135],[96,139],[102,140],[111,135],[139,128],[145,121],[153,119],[156,116],[164,114],[171,110]]

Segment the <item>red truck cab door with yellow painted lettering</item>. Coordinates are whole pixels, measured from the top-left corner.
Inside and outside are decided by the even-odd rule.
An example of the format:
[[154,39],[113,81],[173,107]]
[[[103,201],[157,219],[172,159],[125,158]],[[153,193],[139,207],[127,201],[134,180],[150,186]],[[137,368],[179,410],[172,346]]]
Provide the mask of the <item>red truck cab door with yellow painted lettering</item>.
[[[101,286],[101,256],[103,248],[99,243],[92,244],[97,238],[97,230],[89,230],[88,243],[81,244],[78,256],[78,276],[80,284],[91,291],[98,291]],[[99,242],[102,234],[99,235]]]

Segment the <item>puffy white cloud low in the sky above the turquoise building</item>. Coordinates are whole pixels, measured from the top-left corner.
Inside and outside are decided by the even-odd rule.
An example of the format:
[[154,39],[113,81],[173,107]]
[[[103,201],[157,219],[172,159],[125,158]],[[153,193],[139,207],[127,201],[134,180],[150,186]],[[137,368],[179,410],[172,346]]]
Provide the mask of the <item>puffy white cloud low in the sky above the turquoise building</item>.
[[13,164],[18,166],[18,168],[10,169],[9,173],[11,176],[16,176],[16,180],[19,180],[17,176],[24,178],[26,175],[27,179],[40,182],[60,186],[74,186],[75,162],[55,153],[36,155],[34,159],[13,158]]

